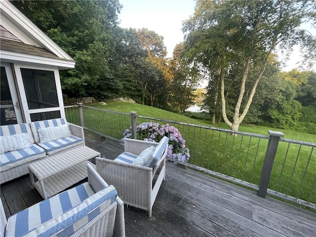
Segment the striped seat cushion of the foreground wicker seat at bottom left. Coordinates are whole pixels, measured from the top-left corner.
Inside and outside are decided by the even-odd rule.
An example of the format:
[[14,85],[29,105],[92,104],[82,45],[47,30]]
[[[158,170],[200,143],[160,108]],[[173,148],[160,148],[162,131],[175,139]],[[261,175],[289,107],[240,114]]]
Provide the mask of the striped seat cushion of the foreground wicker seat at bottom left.
[[[88,182],[43,200],[9,217],[6,236],[23,236],[94,195]],[[31,218],[29,218],[31,217]]]

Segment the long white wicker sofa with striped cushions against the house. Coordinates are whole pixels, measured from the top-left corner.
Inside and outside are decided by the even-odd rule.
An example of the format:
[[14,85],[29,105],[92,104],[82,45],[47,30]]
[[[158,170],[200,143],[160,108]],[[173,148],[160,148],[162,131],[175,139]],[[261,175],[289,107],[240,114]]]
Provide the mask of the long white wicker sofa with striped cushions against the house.
[[[49,142],[40,142],[40,129],[55,129],[67,124],[69,124],[71,131],[70,136]],[[65,118],[36,121],[30,124],[2,125],[0,126],[0,139],[1,184],[28,174],[28,165],[32,162],[84,145],[83,128],[68,123]],[[4,144],[7,146],[4,146]]]

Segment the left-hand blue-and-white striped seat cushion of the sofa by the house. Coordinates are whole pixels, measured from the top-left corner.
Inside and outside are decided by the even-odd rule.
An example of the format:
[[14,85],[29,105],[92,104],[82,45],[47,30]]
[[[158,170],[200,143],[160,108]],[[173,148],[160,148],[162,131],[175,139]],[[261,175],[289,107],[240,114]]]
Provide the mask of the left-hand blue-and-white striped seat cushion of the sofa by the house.
[[32,144],[23,150],[3,153],[0,155],[1,171],[11,169],[23,163],[37,160],[45,156],[46,152],[44,149],[36,144]]

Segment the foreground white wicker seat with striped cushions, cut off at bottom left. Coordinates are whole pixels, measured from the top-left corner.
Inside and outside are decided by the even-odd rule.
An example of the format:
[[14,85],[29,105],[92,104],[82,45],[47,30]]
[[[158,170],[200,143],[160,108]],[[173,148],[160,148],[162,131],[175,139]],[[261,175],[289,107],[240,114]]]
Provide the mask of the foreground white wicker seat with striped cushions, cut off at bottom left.
[[87,164],[88,182],[43,200],[6,220],[0,202],[0,237],[124,237],[124,206],[116,189]]

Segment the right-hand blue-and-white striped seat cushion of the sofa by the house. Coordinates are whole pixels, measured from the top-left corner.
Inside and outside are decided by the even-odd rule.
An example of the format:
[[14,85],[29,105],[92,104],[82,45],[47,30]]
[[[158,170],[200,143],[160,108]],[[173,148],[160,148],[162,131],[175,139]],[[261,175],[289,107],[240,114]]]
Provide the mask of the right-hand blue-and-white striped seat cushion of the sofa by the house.
[[83,139],[74,135],[51,142],[38,143],[38,145],[43,148],[49,156],[80,144],[83,144]]

